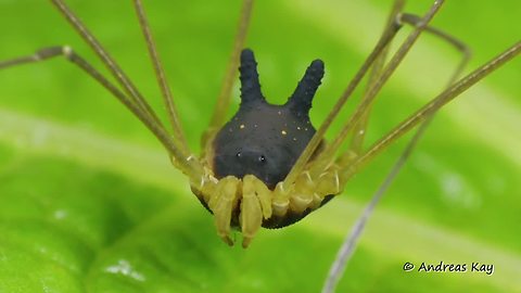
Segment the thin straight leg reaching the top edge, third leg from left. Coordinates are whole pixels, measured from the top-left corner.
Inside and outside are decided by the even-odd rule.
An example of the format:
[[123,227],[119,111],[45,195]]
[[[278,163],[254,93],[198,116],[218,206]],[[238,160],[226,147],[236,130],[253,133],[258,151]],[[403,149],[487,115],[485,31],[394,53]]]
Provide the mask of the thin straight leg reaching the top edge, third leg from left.
[[144,8],[141,0],[135,0],[134,7],[136,9],[136,13],[138,14],[139,25],[141,26],[141,30],[147,42],[150,59],[152,60],[152,64],[154,65],[155,77],[161,88],[161,93],[163,95],[163,101],[165,103],[165,107],[168,114],[168,119],[170,120],[174,137],[179,141],[180,146],[183,149],[183,151],[188,153],[188,143],[182,131],[179,115],[174,104],[174,98],[171,97],[171,90],[168,86],[165,71],[163,69],[157,49],[155,47],[155,41],[152,37],[149,21],[147,20],[147,14],[144,13]]

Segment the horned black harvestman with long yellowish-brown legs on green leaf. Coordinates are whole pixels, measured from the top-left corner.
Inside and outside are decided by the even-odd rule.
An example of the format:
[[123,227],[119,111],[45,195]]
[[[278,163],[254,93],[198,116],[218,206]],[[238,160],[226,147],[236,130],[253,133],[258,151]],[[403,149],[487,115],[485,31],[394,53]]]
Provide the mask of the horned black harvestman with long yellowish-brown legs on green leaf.
[[[61,0],[51,2],[92,47],[116,78],[118,87],[69,47],[46,48],[30,56],[1,62],[0,68],[54,56],[65,56],[79,66],[119,99],[165,146],[174,166],[188,176],[194,194],[214,214],[221,239],[232,244],[230,229],[239,227],[244,237],[243,246],[250,244],[260,227],[280,228],[291,225],[334,195],[341,194],[350,178],[390,143],[415,126],[428,122],[444,104],[521,51],[518,42],[459,81],[453,82],[454,78],[450,78],[450,86],[446,90],[364,150],[361,145],[371,105],[421,33],[432,33],[466,52],[465,47],[455,38],[429,26],[443,1],[436,1],[422,17],[403,13],[403,3],[397,1],[381,39],[326,120],[315,129],[308,112],[323,75],[323,63],[317,60],[310,64],[288,103],[269,104],[260,92],[253,52],[243,50],[253,7],[253,1],[245,0],[221,92],[208,130],[203,135],[203,153],[198,156],[187,145],[141,1],[136,0],[135,7],[168,110],[171,133],[126,74],[65,3]],[[412,25],[415,29],[387,62],[389,44],[404,25]],[[239,112],[226,123],[226,110],[230,104],[238,67],[241,73],[242,102]],[[326,131],[369,72],[369,85],[363,101],[345,122],[341,132],[332,141],[326,142]],[[459,69],[454,76],[457,75]],[[347,139],[351,142],[344,149],[342,145]]]

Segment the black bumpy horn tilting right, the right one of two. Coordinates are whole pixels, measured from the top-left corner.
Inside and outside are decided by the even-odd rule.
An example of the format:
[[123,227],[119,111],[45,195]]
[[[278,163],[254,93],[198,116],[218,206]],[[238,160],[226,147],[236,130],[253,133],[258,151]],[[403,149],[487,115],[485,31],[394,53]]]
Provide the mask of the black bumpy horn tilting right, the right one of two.
[[306,73],[296,86],[295,91],[285,103],[292,111],[298,114],[308,114],[312,101],[323,77],[323,62],[319,59],[312,62]]

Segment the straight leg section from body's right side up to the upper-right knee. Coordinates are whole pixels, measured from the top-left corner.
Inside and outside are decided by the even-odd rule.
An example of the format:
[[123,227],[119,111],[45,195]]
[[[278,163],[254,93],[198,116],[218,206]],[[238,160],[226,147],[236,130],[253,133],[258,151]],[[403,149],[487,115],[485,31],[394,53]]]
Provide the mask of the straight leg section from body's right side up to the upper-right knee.
[[[397,13],[402,10],[403,5],[404,5],[404,1],[402,0],[398,0],[395,2],[396,16],[397,16]],[[356,87],[360,84],[361,79],[366,76],[368,71],[371,68],[374,61],[379,58],[382,51],[385,50],[389,42],[394,38],[394,36],[396,36],[401,27],[402,26],[399,23],[393,22],[389,27],[385,28],[383,36],[378,41],[377,46],[372,49],[372,52],[369,54],[369,56],[366,59],[361,67],[358,69],[355,77],[351,80],[350,85],[347,86],[345,91],[342,93],[340,99],[336,101],[333,109],[331,110],[329,115],[326,117],[326,120],[320,125],[317,132],[315,132],[312,140],[308,142],[308,144],[302,152],[301,156],[296,160],[295,164],[293,165],[290,173],[285,177],[282,183],[282,187],[291,186],[291,183],[295,181],[296,177],[300,174],[302,174],[302,170],[304,169],[305,165],[307,164],[307,162],[309,161],[309,158],[312,157],[312,155],[315,153],[318,145],[322,141],[323,135],[331,126],[331,123],[338,116],[338,114],[342,110],[345,102],[347,102],[351,94],[355,91]]]

